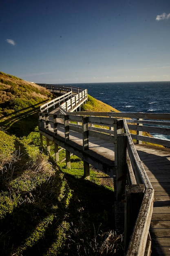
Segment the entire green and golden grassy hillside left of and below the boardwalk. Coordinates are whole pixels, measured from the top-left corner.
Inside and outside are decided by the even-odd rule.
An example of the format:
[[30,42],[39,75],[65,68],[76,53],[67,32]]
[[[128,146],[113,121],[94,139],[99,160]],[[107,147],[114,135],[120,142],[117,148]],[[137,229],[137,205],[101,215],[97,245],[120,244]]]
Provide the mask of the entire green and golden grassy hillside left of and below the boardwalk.
[[110,231],[113,180],[106,186],[108,177],[92,167],[91,182],[84,180],[83,162],[75,156],[71,171],[64,162],[57,164],[44,154],[46,140],[40,152],[38,108],[52,97],[38,85],[0,72],[0,252],[113,255],[111,246],[121,242]]

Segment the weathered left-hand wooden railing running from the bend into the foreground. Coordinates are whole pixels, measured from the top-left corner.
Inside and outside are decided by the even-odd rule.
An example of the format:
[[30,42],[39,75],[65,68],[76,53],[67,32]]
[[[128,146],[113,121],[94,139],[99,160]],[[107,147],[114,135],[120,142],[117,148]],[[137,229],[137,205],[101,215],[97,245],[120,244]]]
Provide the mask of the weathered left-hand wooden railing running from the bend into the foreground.
[[[82,134],[83,151],[88,150],[88,137],[110,141],[115,144],[115,167],[117,170],[117,200],[125,194],[125,252],[128,256],[150,252],[149,227],[153,210],[154,190],[139,159],[125,119],[80,115],[51,115],[40,113],[40,131],[53,133],[62,127],[65,142],[69,141],[70,130]],[[89,113],[88,113],[89,114]],[[95,125],[97,125],[95,127]],[[48,137],[48,135],[47,135]],[[48,137],[50,138],[50,137]],[[64,147],[64,143],[62,146]],[[47,143],[49,146],[49,142]],[[59,160],[58,145],[55,157]],[[76,154],[76,151],[74,152]],[[80,157],[80,155],[78,155]],[[88,161],[88,160],[87,160]],[[66,150],[66,164],[70,166],[70,152]],[[88,162],[84,175],[89,175]],[[128,183],[127,183],[128,180]],[[140,252],[140,253],[139,253]],[[148,254],[149,255],[149,254]]]

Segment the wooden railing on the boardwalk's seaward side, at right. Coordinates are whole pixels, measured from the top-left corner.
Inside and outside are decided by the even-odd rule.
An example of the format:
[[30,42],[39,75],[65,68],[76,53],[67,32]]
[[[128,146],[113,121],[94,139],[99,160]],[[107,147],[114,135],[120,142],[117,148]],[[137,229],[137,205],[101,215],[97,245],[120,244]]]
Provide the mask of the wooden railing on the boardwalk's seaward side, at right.
[[[170,135],[170,113],[123,113],[123,112],[76,112],[72,115],[91,115],[98,117],[124,118],[128,123],[128,128],[132,139],[141,144],[142,141],[170,147],[170,140],[158,139],[149,136],[157,133],[159,135]],[[147,132],[147,136],[144,135]]]

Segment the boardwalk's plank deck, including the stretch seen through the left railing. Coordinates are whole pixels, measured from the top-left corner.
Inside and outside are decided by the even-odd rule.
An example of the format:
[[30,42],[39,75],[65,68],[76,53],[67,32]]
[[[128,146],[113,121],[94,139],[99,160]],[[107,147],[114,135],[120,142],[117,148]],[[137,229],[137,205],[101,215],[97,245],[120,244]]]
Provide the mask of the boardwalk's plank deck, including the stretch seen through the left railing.
[[[49,130],[49,135],[53,132]],[[114,144],[89,137],[89,149],[82,155],[82,135],[70,130],[70,140],[64,140],[64,128],[57,131],[56,139],[60,146],[66,147],[85,161],[104,171],[113,172]],[[150,226],[152,239],[152,255],[170,255],[170,149],[150,146],[148,144],[135,145],[139,157],[144,165],[148,178],[155,190],[155,202]]]

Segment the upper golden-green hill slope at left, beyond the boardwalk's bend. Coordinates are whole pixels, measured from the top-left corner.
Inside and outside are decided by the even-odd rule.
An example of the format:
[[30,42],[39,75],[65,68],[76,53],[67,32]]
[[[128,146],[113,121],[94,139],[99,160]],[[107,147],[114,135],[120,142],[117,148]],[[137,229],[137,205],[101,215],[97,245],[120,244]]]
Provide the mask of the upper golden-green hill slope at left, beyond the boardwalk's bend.
[[0,72],[0,126],[19,137],[37,126],[38,109],[53,97],[49,90]]

